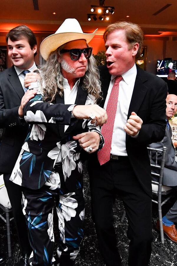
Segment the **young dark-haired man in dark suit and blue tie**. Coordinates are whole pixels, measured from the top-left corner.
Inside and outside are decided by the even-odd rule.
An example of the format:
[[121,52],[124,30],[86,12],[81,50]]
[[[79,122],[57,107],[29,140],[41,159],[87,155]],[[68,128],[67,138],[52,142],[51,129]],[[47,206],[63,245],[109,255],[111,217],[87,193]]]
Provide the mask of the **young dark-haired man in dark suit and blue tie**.
[[29,265],[31,247],[22,213],[22,190],[19,185],[9,181],[9,177],[27,134],[28,125],[24,123],[24,119],[20,119],[22,112],[19,107],[25,93],[23,71],[32,72],[36,69],[34,56],[37,41],[34,33],[24,25],[10,30],[6,41],[13,66],[0,73],[0,126],[4,128],[0,145],[0,172],[4,174],[19,239],[21,256],[16,265],[26,266]]

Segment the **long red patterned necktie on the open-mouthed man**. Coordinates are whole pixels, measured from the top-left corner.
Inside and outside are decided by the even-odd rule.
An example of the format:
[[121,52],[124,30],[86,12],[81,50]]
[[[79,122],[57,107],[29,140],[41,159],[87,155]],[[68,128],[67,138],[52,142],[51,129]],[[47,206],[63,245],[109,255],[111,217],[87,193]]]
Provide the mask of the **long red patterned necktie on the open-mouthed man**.
[[98,151],[98,160],[100,165],[110,160],[111,143],[112,143],[112,132],[114,128],[114,120],[117,110],[117,101],[119,95],[119,82],[122,80],[122,76],[117,76],[112,87],[109,100],[106,107],[106,113],[108,116],[107,123],[101,128],[101,134],[104,137],[104,147]]

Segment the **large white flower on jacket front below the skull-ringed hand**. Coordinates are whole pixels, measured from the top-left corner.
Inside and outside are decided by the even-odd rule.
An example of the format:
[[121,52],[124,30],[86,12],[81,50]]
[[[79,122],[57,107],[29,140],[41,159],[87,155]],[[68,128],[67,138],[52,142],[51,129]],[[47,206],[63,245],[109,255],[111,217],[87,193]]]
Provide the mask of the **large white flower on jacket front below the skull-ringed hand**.
[[63,164],[63,175],[66,181],[66,177],[71,175],[71,171],[76,168],[76,163],[73,159],[73,154],[76,153],[75,148],[77,147],[76,141],[68,141],[61,147],[61,156]]

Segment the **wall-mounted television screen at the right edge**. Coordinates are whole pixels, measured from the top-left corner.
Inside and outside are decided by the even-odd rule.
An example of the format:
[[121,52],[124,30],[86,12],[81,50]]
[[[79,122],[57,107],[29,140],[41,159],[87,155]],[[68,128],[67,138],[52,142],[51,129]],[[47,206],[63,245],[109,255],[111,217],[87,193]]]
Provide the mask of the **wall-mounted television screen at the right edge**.
[[167,77],[170,72],[174,72],[177,77],[177,60],[157,60],[156,75],[158,77]]

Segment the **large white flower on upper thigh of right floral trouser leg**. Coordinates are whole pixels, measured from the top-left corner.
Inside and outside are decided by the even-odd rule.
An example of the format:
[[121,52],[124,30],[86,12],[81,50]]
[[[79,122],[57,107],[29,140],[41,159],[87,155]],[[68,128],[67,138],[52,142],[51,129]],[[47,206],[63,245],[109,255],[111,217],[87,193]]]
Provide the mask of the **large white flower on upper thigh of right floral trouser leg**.
[[70,192],[65,195],[60,195],[61,210],[63,218],[66,221],[70,221],[71,217],[76,216],[76,208],[78,207],[77,200],[73,199],[71,196],[75,195],[75,192]]

